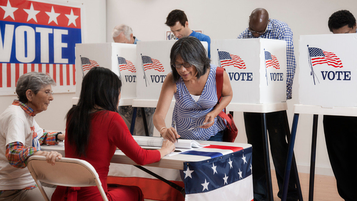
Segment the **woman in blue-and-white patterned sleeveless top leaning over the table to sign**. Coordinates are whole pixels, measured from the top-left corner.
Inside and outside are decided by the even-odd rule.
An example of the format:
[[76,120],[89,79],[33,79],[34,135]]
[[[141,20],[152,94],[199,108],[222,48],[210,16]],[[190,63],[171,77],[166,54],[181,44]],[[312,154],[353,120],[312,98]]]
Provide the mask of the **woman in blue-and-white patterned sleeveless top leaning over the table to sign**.
[[[222,99],[217,104],[217,67],[210,64],[206,50],[197,38],[186,36],[178,39],[171,48],[170,59],[172,72],[165,78],[154,114],[154,125],[160,136],[172,142],[179,137],[223,141],[226,126],[217,115],[232,99],[227,73],[223,73]],[[166,126],[165,117],[173,96],[176,103],[172,124]],[[188,130],[204,123],[208,124]]]

